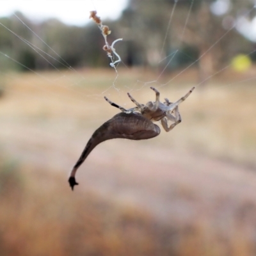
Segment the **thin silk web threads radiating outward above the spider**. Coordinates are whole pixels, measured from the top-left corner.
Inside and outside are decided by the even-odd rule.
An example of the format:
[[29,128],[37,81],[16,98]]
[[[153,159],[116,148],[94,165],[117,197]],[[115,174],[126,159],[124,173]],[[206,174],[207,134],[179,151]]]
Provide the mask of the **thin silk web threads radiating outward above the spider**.
[[[180,4],[179,2],[180,2],[179,0],[175,0],[172,8],[170,8],[170,19],[168,20],[168,24],[167,24],[167,27],[166,27],[166,33],[165,33],[165,36],[163,38],[163,45],[161,47],[161,54],[160,54],[159,64],[163,63],[163,61],[166,61],[166,60],[167,61],[166,61],[166,64],[164,65],[164,67],[161,67],[161,70],[160,70],[159,74],[157,74],[156,79],[153,79],[153,80],[150,80],[150,81],[140,81],[140,80],[137,80],[137,81],[134,81],[133,84],[125,84],[125,86],[122,86],[122,84],[120,84],[119,81],[118,81],[118,76],[119,76],[118,68],[119,67],[117,65],[116,66],[116,70],[115,70],[116,74],[114,74],[115,72],[113,72],[113,76],[114,76],[113,81],[111,83],[109,83],[109,87],[106,90],[102,91],[102,94],[107,93],[107,92],[109,93],[109,90],[113,89],[113,88],[118,93],[120,93],[119,90],[121,90],[121,93],[124,93],[125,92],[125,88],[127,88],[127,90],[129,90],[129,92],[132,92],[133,90],[143,90],[143,88],[145,86],[148,86],[149,84],[150,85],[156,84],[157,88],[163,87],[163,86],[168,86],[168,85],[172,84],[172,82],[174,82],[175,79],[177,79],[178,77],[182,76],[182,74],[184,74],[184,72],[186,72],[186,70],[188,70],[190,67],[193,67],[193,66],[197,65],[198,62],[205,56],[205,54],[207,54],[208,52],[211,52],[211,50],[214,47],[216,47],[216,45],[220,44],[220,42],[221,42],[221,40],[223,40],[223,38],[228,36],[230,31],[236,29],[237,23],[234,22],[234,24],[225,33],[223,33],[223,35],[220,35],[218,40],[216,40],[216,42],[214,42],[212,45],[210,45],[209,48],[206,49],[198,58],[196,58],[195,61],[193,61],[187,67],[184,67],[178,74],[173,76],[172,79],[169,79],[169,80],[165,81],[164,83],[160,82],[161,77],[163,77],[164,72],[170,66],[170,64],[172,63],[173,59],[177,55],[177,53],[182,51],[181,44],[183,42],[184,33],[185,33],[186,28],[188,26],[189,19],[191,18],[191,10],[192,10],[193,6],[195,5],[195,0],[190,0],[189,10],[188,10],[188,13],[186,15],[186,19],[184,20],[184,26],[183,26],[182,30],[180,31],[180,45],[178,45],[177,49],[175,49],[175,51],[172,52],[169,56],[164,56],[163,57],[163,49],[164,49],[164,45],[166,44],[166,38],[168,37],[168,35],[170,33],[170,27],[171,27],[172,22],[173,22],[173,16],[175,15],[175,10],[176,10],[177,6]],[[91,4],[92,4],[92,6],[93,6],[93,8],[95,10],[97,10],[97,8],[99,7],[99,3],[97,3],[97,1],[92,1]],[[98,4],[98,6],[97,6],[97,4]],[[253,12],[253,10],[255,10],[254,6],[247,13],[244,13],[244,17],[248,17],[248,15],[250,15],[250,13]],[[76,70],[76,68],[73,68],[71,65],[68,64],[67,61],[65,61],[63,58],[61,58],[60,54],[58,54],[58,51],[55,51],[51,47],[51,45],[47,44],[47,42],[45,42],[38,34],[36,34],[36,32],[33,31],[33,29],[29,28],[29,26],[26,24],[26,22],[24,22],[22,19],[20,19],[15,13],[13,13],[13,15],[15,15],[17,20],[19,20],[19,22],[24,26],[24,28],[28,29],[29,33],[35,35],[36,38],[38,38],[38,40],[40,40],[40,43],[44,44],[44,46],[49,48],[49,50],[51,50],[52,53],[49,54],[48,52],[45,52],[43,50],[42,46],[35,45],[35,44],[33,44],[33,42],[29,42],[28,40],[22,38],[22,36],[19,36],[17,33],[12,31],[11,29],[9,29],[7,26],[4,26],[4,24],[0,23],[0,26],[3,26],[3,28],[5,28],[9,33],[12,33],[13,36],[16,36],[17,40],[20,40],[20,44],[27,44],[27,45],[29,45],[29,47],[31,47],[31,49],[33,49],[33,51],[35,51],[36,54],[40,55],[45,61],[47,61],[47,63],[49,63],[49,65],[51,65],[56,70],[56,72],[58,72],[60,74],[60,77],[58,79],[55,79],[54,81],[52,81],[51,79],[49,79],[49,77],[45,76],[41,72],[36,72],[35,70],[31,70],[31,68],[28,68],[23,63],[20,63],[19,61],[15,60],[14,58],[12,58],[12,56],[10,56],[9,54],[6,54],[6,52],[0,51],[0,54],[2,56],[4,56],[4,58],[8,58],[9,60],[13,61],[14,63],[17,63],[18,65],[20,65],[20,67],[26,68],[27,70],[29,70],[29,72],[33,72],[40,79],[42,79],[43,81],[45,81],[47,83],[50,83],[50,84],[51,83],[52,84],[56,84],[59,81],[61,81],[61,79],[68,79],[68,76],[63,74],[64,72],[62,70],[60,70],[59,68],[55,67],[54,64],[52,64],[51,59],[54,60],[54,61],[58,61],[58,63],[60,63],[60,65],[62,65],[64,68],[67,68],[71,72],[74,72],[74,74],[77,77],[77,81],[76,82],[70,81],[70,83],[68,83],[68,86],[66,86],[66,87],[68,87],[69,90],[76,90],[75,86],[77,84],[81,84],[84,81],[86,81],[86,77],[84,77],[84,75],[81,74],[81,72]],[[100,31],[99,31],[99,33],[100,33]],[[125,38],[124,38],[124,40],[125,40]],[[119,47],[122,47],[122,42],[120,42],[118,44],[120,44]],[[99,51],[102,51],[102,49],[99,49]],[[250,56],[255,51],[248,52],[246,55]],[[44,57],[44,54],[49,56],[50,60],[47,60]],[[121,58],[122,58],[122,56],[121,56]],[[120,64],[120,67],[121,66],[125,67],[125,64],[122,63],[122,64]],[[204,79],[204,81],[198,82],[197,84],[195,84],[195,86],[196,87],[201,86],[202,84],[205,83],[205,81],[211,80],[212,77],[220,74],[221,72],[223,72],[224,70],[226,70],[229,67],[230,67],[230,65],[227,65],[226,67],[223,67],[220,70],[216,71],[214,74],[209,74],[209,76],[206,77]],[[10,75],[8,75],[8,76],[10,76]],[[250,80],[252,80],[252,79],[255,79],[255,77],[250,77]],[[247,79],[241,80],[241,81],[236,81],[236,84],[243,84],[245,81],[247,81]],[[230,85],[232,85],[232,84],[227,84],[226,86],[230,86]],[[60,86],[63,86],[63,85],[60,84]],[[8,90],[8,89],[6,89],[6,90]],[[44,88],[40,88],[40,90],[44,90]],[[111,91],[111,92],[113,92],[113,91]],[[88,90],[88,92],[86,92],[86,93],[83,93],[83,96],[84,97],[92,97],[93,96],[93,97],[96,97],[97,99],[99,99],[99,97],[100,98],[102,97],[102,95],[92,95],[92,94],[90,94],[90,90]]]

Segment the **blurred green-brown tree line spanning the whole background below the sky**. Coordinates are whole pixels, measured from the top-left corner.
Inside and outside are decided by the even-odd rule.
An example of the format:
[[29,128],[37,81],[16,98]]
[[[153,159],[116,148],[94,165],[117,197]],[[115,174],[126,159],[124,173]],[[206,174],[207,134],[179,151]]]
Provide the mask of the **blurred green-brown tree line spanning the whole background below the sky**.
[[[172,70],[195,62],[204,79],[235,54],[250,52],[254,47],[234,25],[241,10],[253,10],[250,1],[229,0],[228,11],[222,15],[212,12],[214,2],[130,0],[120,19],[104,21],[112,31],[108,40],[124,38],[115,48],[127,66],[167,65],[167,70]],[[251,12],[248,18],[254,15]],[[22,63],[19,65],[1,54],[2,70],[108,66],[106,52],[102,51],[104,38],[93,22],[83,27],[68,26],[57,19],[38,24],[19,12],[1,18],[0,22],[0,51]]]

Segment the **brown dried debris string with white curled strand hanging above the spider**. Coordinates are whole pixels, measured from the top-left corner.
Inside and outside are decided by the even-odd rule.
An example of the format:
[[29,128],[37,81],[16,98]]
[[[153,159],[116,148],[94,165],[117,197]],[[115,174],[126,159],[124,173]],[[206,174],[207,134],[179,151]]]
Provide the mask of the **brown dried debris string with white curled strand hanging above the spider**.
[[[109,64],[110,67],[115,68],[116,70],[116,64],[119,63],[121,60],[120,56],[116,53],[116,50],[114,48],[114,45],[116,42],[123,40],[123,38],[118,38],[116,39],[111,45],[109,45],[107,36],[110,35],[111,30],[109,30],[108,26],[105,26],[102,24],[102,21],[99,16],[96,15],[96,11],[91,11],[90,12],[90,18],[94,20],[94,22],[99,26],[99,29],[102,33],[102,36],[104,37],[105,40],[105,45],[103,47],[103,50],[107,52],[108,57],[111,59],[111,63]],[[113,53],[113,54],[112,54]],[[114,61],[114,55],[117,57],[117,60]]]

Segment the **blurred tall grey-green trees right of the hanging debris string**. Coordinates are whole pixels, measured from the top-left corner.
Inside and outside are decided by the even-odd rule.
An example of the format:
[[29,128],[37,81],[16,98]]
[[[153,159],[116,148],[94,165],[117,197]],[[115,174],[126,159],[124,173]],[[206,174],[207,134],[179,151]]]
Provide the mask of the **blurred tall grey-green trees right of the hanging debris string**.
[[[221,8],[223,4],[226,10]],[[243,15],[253,10],[251,1],[130,0],[120,19],[124,38],[128,38],[130,45],[136,45],[133,52],[130,49],[127,53],[129,61],[136,58],[136,63],[159,67],[159,61],[164,60],[162,67],[168,65],[170,69],[185,64],[179,58],[188,56],[189,49],[186,64],[198,65],[199,79],[204,83],[234,53],[250,52],[252,44],[234,26],[241,10]],[[170,63],[167,56],[174,57]]]

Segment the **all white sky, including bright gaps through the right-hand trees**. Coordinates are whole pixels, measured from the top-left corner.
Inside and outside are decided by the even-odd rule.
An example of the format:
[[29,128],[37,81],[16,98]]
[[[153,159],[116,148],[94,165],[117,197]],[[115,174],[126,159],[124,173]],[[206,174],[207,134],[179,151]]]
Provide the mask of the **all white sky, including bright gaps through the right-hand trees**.
[[[97,10],[102,19],[117,19],[129,0],[0,0],[0,17],[20,11],[29,19],[41,21],[55,17],[69,25],[83,26],[90,21],[90,11]],[[242,0],[241,0],[242,1]],[[230,6],[230,0],[217,0],[211,11],[223,15]],[[256,42],[256,18],[237,19],[237,30],[246,38]]]

